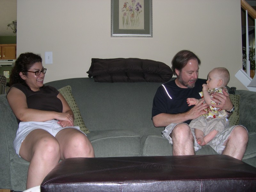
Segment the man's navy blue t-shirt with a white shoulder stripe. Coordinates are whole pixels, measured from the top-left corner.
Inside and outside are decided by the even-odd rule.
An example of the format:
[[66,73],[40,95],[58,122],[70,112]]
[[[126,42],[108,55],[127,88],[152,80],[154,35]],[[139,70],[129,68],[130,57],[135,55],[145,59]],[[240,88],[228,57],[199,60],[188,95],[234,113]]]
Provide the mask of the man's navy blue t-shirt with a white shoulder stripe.
[[[195,87],[191,89],[180,88],[176,85],[175,80],[163,84],[164,86],[161,85],[158,87],[153,100],[152,117],[161,113],[178,114],[187,112],[193,107],[188,106],[187,98],[201,99],[199,92],[202,91],[203,84],[206,84],[205,79],[197,79]],[[189,124],[190,121],[184,123]]]

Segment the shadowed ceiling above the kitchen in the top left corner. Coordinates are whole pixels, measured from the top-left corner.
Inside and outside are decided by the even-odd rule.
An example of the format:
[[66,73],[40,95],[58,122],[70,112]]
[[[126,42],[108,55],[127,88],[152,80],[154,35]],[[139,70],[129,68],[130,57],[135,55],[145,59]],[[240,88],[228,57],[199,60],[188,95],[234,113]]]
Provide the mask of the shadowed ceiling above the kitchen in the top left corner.
[[0,0],[0,18],[0,36],[13,36],[7,25],[17,20],[17,0]]

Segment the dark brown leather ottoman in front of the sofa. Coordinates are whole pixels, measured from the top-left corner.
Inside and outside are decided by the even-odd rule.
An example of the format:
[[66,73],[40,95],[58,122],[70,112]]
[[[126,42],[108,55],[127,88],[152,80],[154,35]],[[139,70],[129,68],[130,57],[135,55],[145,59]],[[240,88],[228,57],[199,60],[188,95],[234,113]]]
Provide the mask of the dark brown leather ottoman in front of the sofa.
[[256,168],[225,155],[70,158],[41,184],[41,192],[255,190]]

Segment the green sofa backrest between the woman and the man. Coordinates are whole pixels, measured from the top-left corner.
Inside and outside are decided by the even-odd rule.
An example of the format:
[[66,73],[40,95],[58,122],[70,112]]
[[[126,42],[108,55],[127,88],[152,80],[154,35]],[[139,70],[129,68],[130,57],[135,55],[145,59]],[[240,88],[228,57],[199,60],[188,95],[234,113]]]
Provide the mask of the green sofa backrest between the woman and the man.
[[162,83],[99,83],[93,78],[71,78],[46,83],[56,89],[66,85],[90,131],[124,129],[140,135],[161,135],[163,127],[151,120],[153,98]]

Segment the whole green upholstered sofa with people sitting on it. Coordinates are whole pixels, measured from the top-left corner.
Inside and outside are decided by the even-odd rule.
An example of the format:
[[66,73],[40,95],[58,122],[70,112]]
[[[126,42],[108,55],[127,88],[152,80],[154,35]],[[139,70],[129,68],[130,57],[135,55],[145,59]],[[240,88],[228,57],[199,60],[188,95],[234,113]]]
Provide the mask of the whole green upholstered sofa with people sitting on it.
[[[151,120],[152,101],[162,83],[98,83],[93,78],[72,78],[46,83],[60,89],[70,85],[80,109],[96,157],[169,156],[172,146],[162,137],[163,127]],[[256,167],[256,92],[237,90],[240,121],[249,132],[243,161]],[[13,149],[18,124],[6,100],[0,95],[0,188],[26,189],[29,163]],[[196,154],[216,154],[204,146]]]

